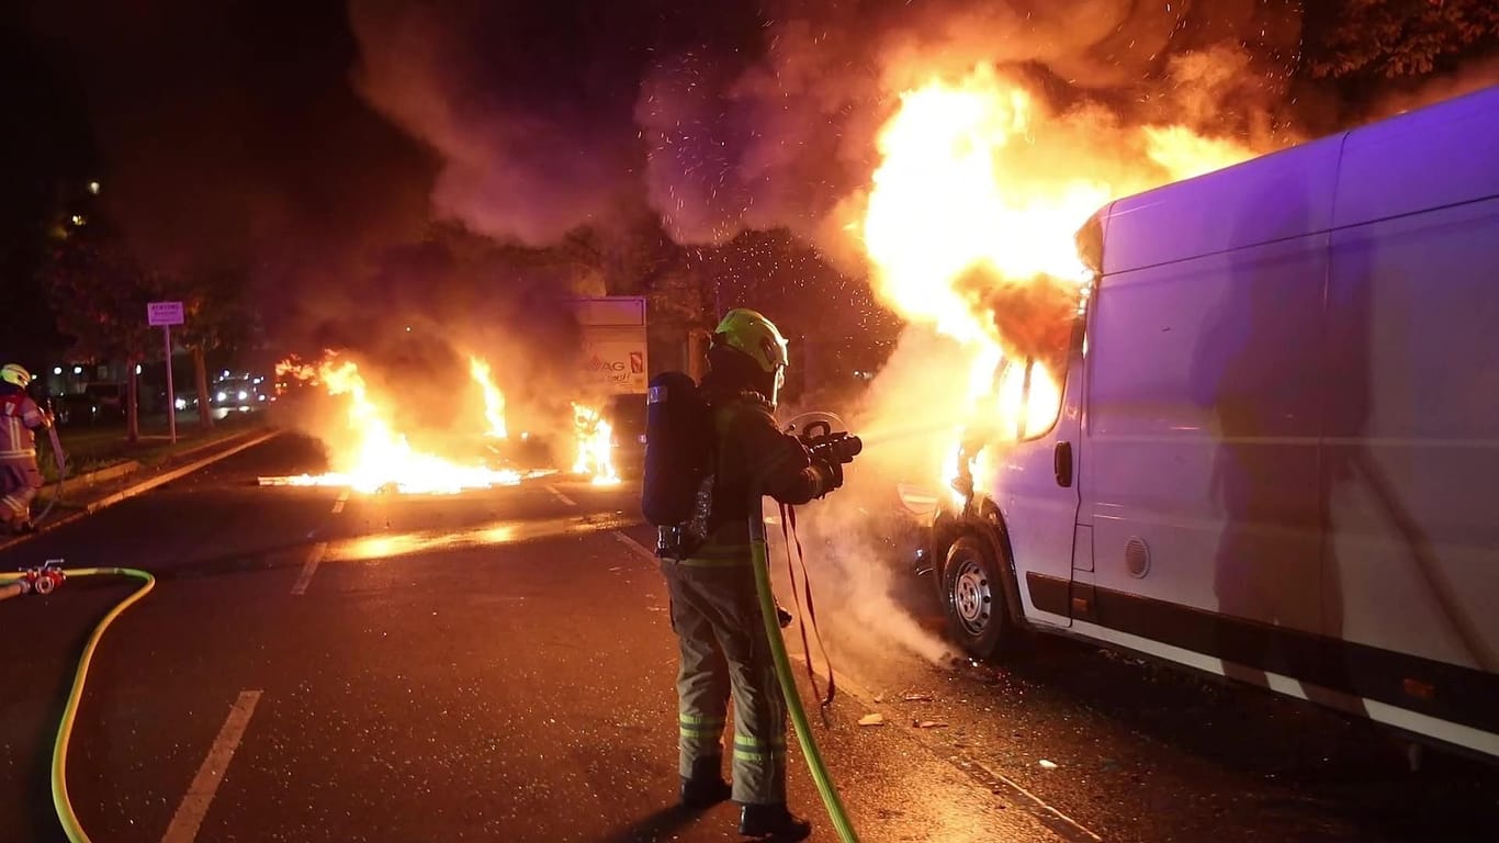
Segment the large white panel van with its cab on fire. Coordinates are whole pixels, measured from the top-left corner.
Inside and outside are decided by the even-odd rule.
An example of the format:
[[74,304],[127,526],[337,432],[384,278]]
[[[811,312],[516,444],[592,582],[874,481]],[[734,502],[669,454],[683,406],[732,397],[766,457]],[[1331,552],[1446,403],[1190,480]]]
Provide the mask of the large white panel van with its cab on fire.
[[958,639],[1066,633],[1499,756],[1499,87],[1078,243],[1055,423],[935,522]]

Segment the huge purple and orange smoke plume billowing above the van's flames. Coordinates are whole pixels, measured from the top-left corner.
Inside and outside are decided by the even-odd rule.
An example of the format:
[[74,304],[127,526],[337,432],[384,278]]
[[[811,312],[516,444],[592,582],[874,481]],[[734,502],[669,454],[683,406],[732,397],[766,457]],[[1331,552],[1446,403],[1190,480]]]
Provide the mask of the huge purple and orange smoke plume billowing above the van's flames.
[[681,243],[785,226],[833,243],[892,92],[977,63],[1060,104],[1268,136],[1291,0],[973,4],[355,0],[360,90],[444,158],[442,214],[546,243],[646,201]]

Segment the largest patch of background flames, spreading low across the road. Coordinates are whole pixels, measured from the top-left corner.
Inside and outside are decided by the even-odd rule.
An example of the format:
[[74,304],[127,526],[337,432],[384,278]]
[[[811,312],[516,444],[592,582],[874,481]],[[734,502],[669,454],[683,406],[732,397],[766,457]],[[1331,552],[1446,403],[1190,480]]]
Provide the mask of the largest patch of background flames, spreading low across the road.
[[[321,384],[345,399],[345,418],[324,435],[333,466],[327,474],[262,477],[261,484],[348,486],[357,492],[456,494],[465,489],[513,486],[525,477],[510,468],[490,468],[415,450],[391,423],[388,404],[378,399],[352,360],[330,354],[316,364],[283,360],[277,376]],[[498,390],[496,390],[498,393]],[[486,404],[487,406],[487,404]],[[493,423],[490,424],[493,430]]]

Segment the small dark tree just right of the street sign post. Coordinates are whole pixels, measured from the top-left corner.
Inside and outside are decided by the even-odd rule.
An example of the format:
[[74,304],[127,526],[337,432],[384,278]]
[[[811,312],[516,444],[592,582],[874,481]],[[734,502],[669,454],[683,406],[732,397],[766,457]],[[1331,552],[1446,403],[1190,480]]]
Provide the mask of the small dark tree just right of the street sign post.
[[[213,428],[208,402],[208,354],[244,348],[259,330],[258,314],[247,296],[243,274],[228,268],[198,270],[174,278],[168,294],[183,303],[183,324],[175,338],[192,356],[198,388],[198,423]],[[175,408],[168,412],[175,412]]]

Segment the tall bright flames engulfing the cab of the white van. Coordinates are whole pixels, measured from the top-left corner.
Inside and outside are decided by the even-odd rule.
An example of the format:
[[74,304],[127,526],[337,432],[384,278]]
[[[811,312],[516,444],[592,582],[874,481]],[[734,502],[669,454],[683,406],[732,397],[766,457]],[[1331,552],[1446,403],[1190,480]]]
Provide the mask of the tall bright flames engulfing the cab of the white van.
[[1045,434],[1057,418],[1091,280],[1075,246],[1088,216],[1114,196],[1252,156],[1183,126],[1054,112],[992,68],[904,92],[878,150],[851,228],[877,294],[964,350],[967,370],[950,378],[968,411],[943,480],[967,477],[970,488],[992,477],[985,446]]

